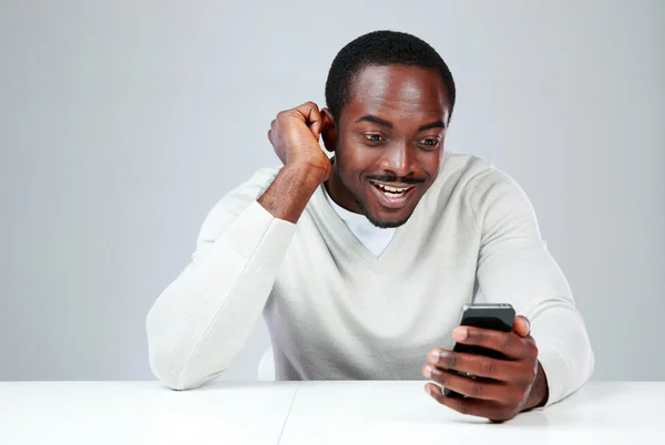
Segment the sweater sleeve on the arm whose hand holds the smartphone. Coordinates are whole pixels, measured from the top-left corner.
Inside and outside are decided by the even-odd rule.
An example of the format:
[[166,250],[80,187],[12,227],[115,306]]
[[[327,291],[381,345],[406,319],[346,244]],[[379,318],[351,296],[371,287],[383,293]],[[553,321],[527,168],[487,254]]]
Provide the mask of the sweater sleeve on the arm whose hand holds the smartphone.
[[593,372],[586,327],[520,186],[493,168],[468,186],[481,230],[480,289],[489,302],[509,302],[530,320],[548,379],[549,406],[579,390]]

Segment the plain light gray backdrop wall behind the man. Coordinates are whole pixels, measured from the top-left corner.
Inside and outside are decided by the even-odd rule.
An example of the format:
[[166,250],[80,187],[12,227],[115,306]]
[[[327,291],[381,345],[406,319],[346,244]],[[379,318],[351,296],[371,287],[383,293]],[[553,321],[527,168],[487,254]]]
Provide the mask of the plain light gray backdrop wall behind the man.
[[[375,29],[448,61],[447,148],[530,195],[594,379],[664,380],[665,1],[299,3],[0,3],[0,380],[153,379],[145,315],[205,215]],[[267,346],[262,324],[222,379]]]

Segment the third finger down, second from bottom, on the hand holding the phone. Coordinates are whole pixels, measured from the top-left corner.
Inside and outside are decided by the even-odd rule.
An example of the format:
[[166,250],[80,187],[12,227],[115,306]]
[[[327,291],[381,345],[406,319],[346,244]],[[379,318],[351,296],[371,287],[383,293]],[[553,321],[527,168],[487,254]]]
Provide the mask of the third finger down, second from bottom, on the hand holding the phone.
[[440,385],[469,397],[489,401],[507,401],[510,399],[508,386],[503,383],[471,379],[454,371],[446,371],[433,366],[430,363],[423,366],[422,373]]

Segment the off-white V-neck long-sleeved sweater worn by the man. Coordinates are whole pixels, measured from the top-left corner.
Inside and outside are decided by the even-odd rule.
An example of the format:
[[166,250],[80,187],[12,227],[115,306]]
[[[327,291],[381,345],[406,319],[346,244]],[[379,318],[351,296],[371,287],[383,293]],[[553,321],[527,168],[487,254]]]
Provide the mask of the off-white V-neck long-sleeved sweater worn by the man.
[[219,375],[262,313],[278,380],[420,380],[427,352],[452,346],[461,307],[479,291],[531,321],[548,404],[590,377],[582,317],[507,174],[446,153],[411,218],[375,257],[323,185],[297,225],[265,210],[256,199],[277,172],[258,170],[212,209],[192,262],[150,310],[151,368],[170,387]]

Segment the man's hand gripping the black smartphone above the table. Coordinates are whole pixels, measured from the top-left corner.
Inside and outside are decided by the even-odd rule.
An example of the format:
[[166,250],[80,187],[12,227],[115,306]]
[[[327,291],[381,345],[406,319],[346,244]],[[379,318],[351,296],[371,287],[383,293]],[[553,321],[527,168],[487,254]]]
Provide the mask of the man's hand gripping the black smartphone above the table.
[[[500,422],[541,404],[548,385],[538,361],[538,348],[530,335],[529,321],[516,317],[512,332],[459,327],[457,342],[499,351],[505,359],[434,349],[422,373],[461,396],[444,396],[441,386],[428,383],[426,391],[439,403],[462,414]],[[477,376],[472,379],[456,371]]]

